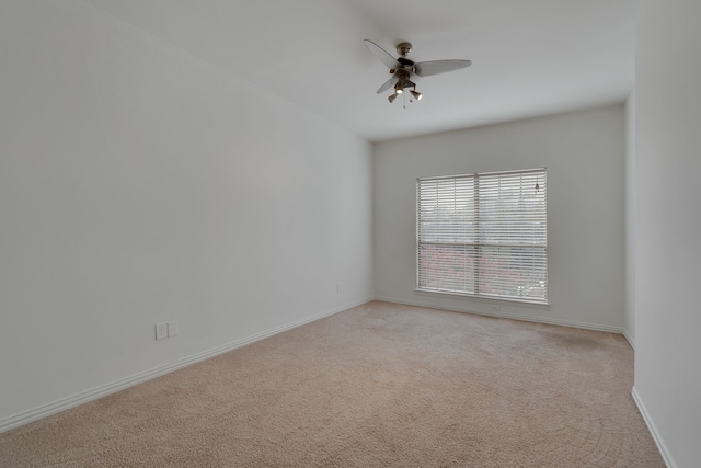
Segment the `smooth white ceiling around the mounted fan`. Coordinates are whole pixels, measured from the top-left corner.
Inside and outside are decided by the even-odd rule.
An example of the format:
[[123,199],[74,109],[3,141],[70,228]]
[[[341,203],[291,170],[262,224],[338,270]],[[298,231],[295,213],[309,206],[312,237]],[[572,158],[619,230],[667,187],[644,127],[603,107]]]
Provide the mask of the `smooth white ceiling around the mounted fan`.
[[[623,102],[641,0],[85,0],[370,141]],[[393,104],[366,48],[470,59]]]

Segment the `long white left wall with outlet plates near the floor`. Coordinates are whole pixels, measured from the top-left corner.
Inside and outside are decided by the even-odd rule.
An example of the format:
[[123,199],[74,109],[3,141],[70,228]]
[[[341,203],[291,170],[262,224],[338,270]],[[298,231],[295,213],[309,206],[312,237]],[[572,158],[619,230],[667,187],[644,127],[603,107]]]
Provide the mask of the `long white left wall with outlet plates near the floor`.
[[0,430],[372,297],[370,144],[80,1],[0,44]]

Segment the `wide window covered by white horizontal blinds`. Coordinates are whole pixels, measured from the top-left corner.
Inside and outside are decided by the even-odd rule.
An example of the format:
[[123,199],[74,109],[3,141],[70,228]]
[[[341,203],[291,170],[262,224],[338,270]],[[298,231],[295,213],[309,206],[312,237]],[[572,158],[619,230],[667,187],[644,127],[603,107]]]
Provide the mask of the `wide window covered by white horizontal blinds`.
[[547,304],[545,193],[545,169],[417,179],[417,288]]

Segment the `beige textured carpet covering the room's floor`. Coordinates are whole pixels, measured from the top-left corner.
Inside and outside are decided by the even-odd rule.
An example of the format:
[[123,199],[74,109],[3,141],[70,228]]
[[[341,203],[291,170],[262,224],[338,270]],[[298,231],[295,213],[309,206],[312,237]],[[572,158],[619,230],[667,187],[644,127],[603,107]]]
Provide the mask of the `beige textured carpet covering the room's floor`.
[[618,334],[370,303],[0,434],[2,467],[664,467]]

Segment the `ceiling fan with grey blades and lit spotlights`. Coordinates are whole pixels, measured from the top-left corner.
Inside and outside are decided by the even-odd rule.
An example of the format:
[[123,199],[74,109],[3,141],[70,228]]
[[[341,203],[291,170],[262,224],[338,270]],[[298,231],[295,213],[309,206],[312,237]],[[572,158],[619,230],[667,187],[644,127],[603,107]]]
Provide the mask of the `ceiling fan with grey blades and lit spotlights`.
[[409,88],[411,88],[411,95],[414,96],[416,101],[420,101],[422,93],[416,91],[415,83],[420,78],[459,70],[472,65],[472,61],[470,60],[434,60],[415,62],[407,58],[412,52],[412,45],[410,43],[400,43],[397,45],[397,53],[400,55],[399,58],[394,58],[390,53],[375,44],[372,41],[365,39],[365,45],[368,46],[370,52],[372,52],[372,54],[375,54],[377,58],[379,58],[380,61],[390,69],[390,73],[392,73],[392,78],[377,90],[377,93],[381,94],[394,87],[394,93],[387,98],[390,103],[394,102],[397,96],[402,94]]

